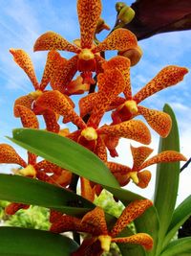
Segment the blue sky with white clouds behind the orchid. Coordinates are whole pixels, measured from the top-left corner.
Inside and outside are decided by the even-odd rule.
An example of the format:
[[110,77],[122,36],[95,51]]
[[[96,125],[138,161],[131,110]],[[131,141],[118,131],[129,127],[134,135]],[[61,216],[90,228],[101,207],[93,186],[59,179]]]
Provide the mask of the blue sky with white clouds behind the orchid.
[[[108,25],[115,23],[116,11],[115,0],[102,0],[102,17]],[[131,4],[133,1],[126,1]],[[12,60],[9,53],[10,48],[24,49],[33,60],[38,79],[41,79],[47,53],[32,53],[32,46],[36,38],[47,32],[54,31],[63,35],[69,41],[79,37],[79,28],[76,17],[76,1],[66,0],[0,0],[0,139],[7,142],[5,135],[11,135],[12,128],[20,127],[20,121],[12,114],[14,100],[21,95],[32,91],[32,84],[27,76]],[[106,34],[103,34],[106,35]],[[101,38],[103,35],[100,35]],[[149,39],[139,41],[143,49],[143,57],[136,67],[132,68],[133,90],[138,91],[147,81],[150,81],[159,70],[168,64],[191,67],[191,32],[169,33],[156,35]],[[64,57],[69,54],[63,53]],[[110,58],[112,55],[108,54]],[[177,86],[168,88],[155,95],[145,105],[152,108],[161,109],[165,103],[170,104],[178,118],[180,124],[180,147],[181,151],[190,157],[190,124],[191,124],[191,101],[190,86],[191,74],[188,74],[184,81]],[[151,148],[157,147],[159,137],[153,133],[153,143]],[[133,145],[135,145],[133,143]],[[122,140],[119,145],[121,157],[118,162],[126,163],[126,141]],[[19,150],[20,151],[20,150]],[[129,158],[129,157],[128,157]],[[130,163],[127,163],[130,165]],[[5,169],[5,166],[1,167]],[[190,167],[180,178],[180,199],[190,194],[188,186]],[[154,185],[154,181],[153,181]],[[135,189],[135,186],[131,187]],[[151,196],[153,187],[146,190],[145,195]],[[138,191],[140,193],[140,191]],[[142,191],[141,191],[142,193]]]

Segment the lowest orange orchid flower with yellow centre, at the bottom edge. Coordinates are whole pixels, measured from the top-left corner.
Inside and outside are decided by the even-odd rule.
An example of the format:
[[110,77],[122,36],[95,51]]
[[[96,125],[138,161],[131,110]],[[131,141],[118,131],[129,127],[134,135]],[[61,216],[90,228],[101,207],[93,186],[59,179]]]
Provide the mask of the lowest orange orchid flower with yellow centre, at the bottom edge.
[[[82,220],[63,215],[53,222],[51,231],[62,233],[66,231],[85,232],[90,237],[85,238],[73,256],[98,256],[109,251],[110,244],[140,244],[149,250],[153,246],[153,239],[146,233],[138,233],[130,237],[118,237],[120,232],[131,222],[137,219],[145,210],[152,206],[149,199],[140,199],[131,202],[122,212],[111,231],[107,228],[104,211],[100,207],[88,212]],[[93,249],[94,248],[94,249]]]

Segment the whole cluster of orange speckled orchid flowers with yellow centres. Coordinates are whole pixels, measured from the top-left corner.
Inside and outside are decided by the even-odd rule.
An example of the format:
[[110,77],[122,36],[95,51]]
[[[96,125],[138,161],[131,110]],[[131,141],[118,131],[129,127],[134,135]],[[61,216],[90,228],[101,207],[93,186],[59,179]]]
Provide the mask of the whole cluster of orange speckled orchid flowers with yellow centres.
[[[93,151],[107,165],[120,186],[125,186],[133,180],[138,187],[145,188],[151,179],[148,166],[161,162],[182,161],[186,160],[185,157],[177,151],[162,151],[147,159],[152,149],[146,146],[131,146],[134,162],[132,167],[128,167],[109,161],[108,153],[111,157],[118,155],[117,144],[120,138],[149,145],[151,134],[148,126],[161,137],[169,134],[172,125],[170,116],[141,103],[160,90],[180,82],[187,69],[175,65],[166,66],[133,95],[130,70],[141,57],[136,36],[127,29],[117,28],[102,42],[98,42],[96,34],[104,29],[109,30],[100,17],[100,0],[77,0],[77,13],[80,39],[74,40],[74,44],[54,32],[41,35],[34,43],[35,52],[49,51],[41,81],[36,79],[29,55],[21,49],[10,50],[14,61],[25,71],[33,85],[32,92],[16,99],[14,116],[20,118],[24,128],[36,129],[40,128],[38,116],[42,116],[46,130],[74,140]],[[120,10],[118,13],[122,22],[125,15],[120,13]],[[104,52],[109,50],[117,50],[118,55],[106,60]],[[58,51],[72,52],[74,57],[63,58]],[[51,89],[47,89],[48,84]],[[76,103],[74,104],[73,95],[81,95],[77,105],[79,113],[74,110]],[[106,112],[111,114],[112,121],[110,125],[102,126],[100,123]],[[139,115],[145,119],[146,125],[138,120]],[[75,130],[70,132],[68,128],[60,128],[60,117],[63,118],[64,124],[72,122]],[[46,159],[38,161],[37,157],[28,152],[26,162],[10,145],[0,145],[0,162],[21,167],[14,172],[15,175],[37,178],[70,189],[73,180],[70,170],[56,166]],[[102,191],[99,184],[82,176],[80,187],[81,196],[91,201]],[[82,219],[52,210],[51,231],[88,234],[73,255],[101,255],[103,251],[109,250],[112,242],[140,244],[145,249],[151,249],[153,239],[146,233],[118,237],[120,231],[151,205],[152,201],[148,199],[131,202],[111,230],[107,227],[104,211],[100,207],[88,212]],[[12,215],[19,209],[28,207],[30,205],[11,203],[6,212]]]

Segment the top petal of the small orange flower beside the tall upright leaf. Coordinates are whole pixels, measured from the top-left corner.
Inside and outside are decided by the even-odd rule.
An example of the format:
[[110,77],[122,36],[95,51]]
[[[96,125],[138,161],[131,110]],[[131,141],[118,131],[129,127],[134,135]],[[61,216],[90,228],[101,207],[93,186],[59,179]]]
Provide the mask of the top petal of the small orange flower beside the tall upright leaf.
[[146,160],[153,150],[143,146],[138,148],[131,146],[131,151],[134,159],[132,171],[137,171],[138,167]]

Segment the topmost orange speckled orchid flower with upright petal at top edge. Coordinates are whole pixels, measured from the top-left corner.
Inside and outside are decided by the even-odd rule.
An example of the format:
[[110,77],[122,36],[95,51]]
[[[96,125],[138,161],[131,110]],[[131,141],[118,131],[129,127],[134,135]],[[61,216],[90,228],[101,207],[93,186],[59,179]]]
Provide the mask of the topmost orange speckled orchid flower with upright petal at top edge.
[[[34,43],[34,51],[60,50],[73,52],[75,56],[69,60],[68,70],[59,70],[62,73],[59,88],[71,80],[67,73],[82,72],[84,81],[94,82],[92,72],[98,73],[101,69],[102,58],[98,55],[107,50],[125,51],[137,47],[136,36],[126,29],[117,29],[98,45],[94,44],[97,24],[101,13],[100,0],[77,0],[77,13],[80,26],[80,43],[71,44],[61,35],[47,32],[41,35]],[[56,89],[58,89],[58,87]],[[59,90],[59,89],[58,89]]]

